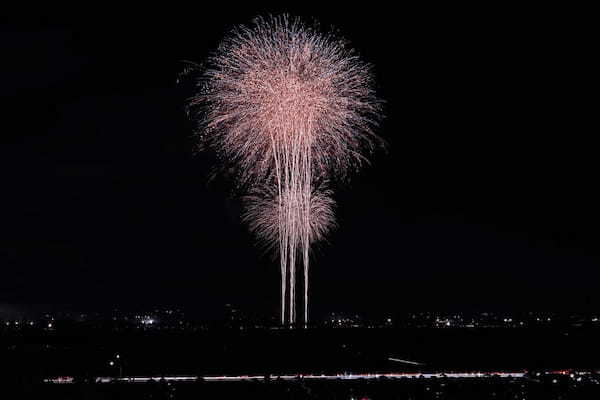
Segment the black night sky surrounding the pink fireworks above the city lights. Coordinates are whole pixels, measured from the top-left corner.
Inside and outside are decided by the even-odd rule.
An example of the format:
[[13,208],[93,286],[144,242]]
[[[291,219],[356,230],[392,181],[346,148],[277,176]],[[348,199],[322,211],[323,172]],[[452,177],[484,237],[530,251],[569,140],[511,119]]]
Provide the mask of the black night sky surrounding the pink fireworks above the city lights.
[[177,78],[235,24],[289,11],[349,38],[386,100],[388,151],[338,188],[339,228],[313,261],[316,314],[597,309],[585,26],[452,7],[5,18],[0,303],[276,314],[278,266],[227,182],[207,183],[193,82]]

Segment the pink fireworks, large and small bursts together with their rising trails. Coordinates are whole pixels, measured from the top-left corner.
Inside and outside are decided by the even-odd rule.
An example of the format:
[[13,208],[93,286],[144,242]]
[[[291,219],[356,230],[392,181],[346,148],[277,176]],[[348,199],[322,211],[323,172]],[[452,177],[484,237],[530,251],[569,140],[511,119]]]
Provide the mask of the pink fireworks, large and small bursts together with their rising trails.
[[296,321],[303,261],[306,323],[310,246],[333,223],[331,192],[317,183],[345,180],[380,143],[370,67],[344,40],[297,18],[257,18],[224,39],[198,89],[190,106],[200,142],[235,171],[250,193],[246,221],[277,248],[282,323]]

